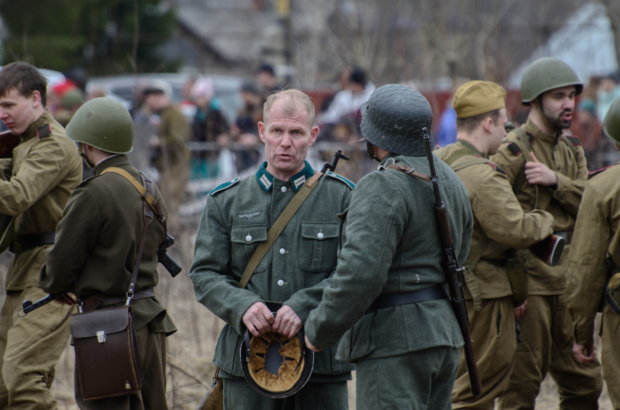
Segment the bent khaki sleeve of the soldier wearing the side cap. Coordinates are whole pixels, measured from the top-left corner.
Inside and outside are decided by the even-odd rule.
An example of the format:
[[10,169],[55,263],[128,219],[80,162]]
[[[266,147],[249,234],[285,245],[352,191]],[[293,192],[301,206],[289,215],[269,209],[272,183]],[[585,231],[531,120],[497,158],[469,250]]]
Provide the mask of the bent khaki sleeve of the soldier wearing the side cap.
[[502,173],[489,173],[473,194],[472,211],[484,233],[495,242],[520,250],[553,233],[553,216],[540,210],[524,213]]

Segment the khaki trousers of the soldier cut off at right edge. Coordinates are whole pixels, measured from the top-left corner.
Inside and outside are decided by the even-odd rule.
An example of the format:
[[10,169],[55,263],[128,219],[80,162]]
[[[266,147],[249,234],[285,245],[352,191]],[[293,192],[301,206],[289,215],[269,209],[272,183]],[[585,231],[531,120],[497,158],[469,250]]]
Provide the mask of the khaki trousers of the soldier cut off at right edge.
[[620,315],[616,315],[608,305],[603,311],[601,359],[609,399],[614,410],[620,410]]

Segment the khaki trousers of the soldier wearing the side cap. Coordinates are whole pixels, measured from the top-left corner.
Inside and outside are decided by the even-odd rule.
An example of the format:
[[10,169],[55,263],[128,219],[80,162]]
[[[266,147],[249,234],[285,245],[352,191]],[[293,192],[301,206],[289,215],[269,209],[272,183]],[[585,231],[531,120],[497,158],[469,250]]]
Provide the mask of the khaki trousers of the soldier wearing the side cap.
[[469,334],[474,341],[474,354],[482,382],[482,395],[474,396],[469,386],[465,355],[452,390],[453,409],[487,409],[495,407],[495,399],[506,391],[515,365],[515,308],[512,296],[482,299],[480,312],[467,300]]

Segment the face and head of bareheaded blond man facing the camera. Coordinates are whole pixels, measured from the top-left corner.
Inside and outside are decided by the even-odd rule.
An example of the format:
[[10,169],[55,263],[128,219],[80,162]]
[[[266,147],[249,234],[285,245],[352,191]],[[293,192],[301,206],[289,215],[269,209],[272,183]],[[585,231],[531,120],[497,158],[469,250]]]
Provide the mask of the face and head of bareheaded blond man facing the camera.
[[289,98],[281,98],[273,103],[268,123],[259,123],[267,170],[274,177],[286,180],[304,167],[308,147],[319,133],[319,127],[312,127],[308,122],[304,108]]

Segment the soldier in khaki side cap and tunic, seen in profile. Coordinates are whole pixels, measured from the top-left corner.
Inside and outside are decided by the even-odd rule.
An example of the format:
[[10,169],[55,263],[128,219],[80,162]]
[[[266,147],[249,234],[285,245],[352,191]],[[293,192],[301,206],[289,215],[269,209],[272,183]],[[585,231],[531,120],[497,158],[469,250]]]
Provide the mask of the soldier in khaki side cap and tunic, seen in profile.
[[[506,136],[503,87],[490,81],[467,82],[454,95],[453,107],[457,142],[435,153],[463,181],[474,212],[474,232],[464,267],[469,290],[469,331],[482,395],[472,395],[463,357],[452,408],[493,409],[515,365],[515,299],[508,271],[522,264],[515,263],[514,250],[528,248],[551,235],[554,219],[549,212],[540,210],[524,214],[505,171],[489,160]],[[517,314],[525,308],[525,302],[516,302],[522,303]]]

